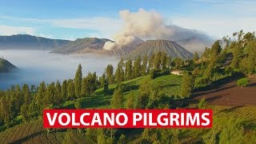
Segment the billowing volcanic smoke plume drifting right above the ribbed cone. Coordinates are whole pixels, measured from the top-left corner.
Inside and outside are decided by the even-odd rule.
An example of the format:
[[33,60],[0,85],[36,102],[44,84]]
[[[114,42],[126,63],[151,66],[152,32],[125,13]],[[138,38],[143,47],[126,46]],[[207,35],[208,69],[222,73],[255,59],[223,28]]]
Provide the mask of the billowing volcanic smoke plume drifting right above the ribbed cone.
[[[164,18],[154,10],[143,9],[132,13],[129,10],[119,12],[123,21],[122,30],[114,34],[115,42],[106,42],[103,49],[114,50],[135,44],[134,39],[138,36],[143,39],[167,39],[180,42],[191,51],[202,51],[210,45],[210,38],[198,30],[185,29],[180,26],[166,25]],[[190,46],[190,47],[188,47]]]

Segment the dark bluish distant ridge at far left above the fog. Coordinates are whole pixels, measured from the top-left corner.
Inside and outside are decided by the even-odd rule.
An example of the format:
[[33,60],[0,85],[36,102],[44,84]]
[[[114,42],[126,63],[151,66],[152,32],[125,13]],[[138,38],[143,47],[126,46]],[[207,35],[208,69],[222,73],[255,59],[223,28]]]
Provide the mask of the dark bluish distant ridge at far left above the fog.
[[36,37],[28,34],[0,36],[0,50],[53,50],[70,41]]

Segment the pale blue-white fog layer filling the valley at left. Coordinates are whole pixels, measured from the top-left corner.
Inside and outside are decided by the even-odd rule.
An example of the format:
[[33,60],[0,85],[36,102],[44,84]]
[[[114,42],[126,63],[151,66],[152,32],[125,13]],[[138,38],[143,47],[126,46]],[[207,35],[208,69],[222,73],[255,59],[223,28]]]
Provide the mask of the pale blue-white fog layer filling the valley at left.
[[116,66],[118,59],[93,54],[62,55],[50,54],[42,50],[1,50],[0,56],[18,67],[18,71],[0,74],[0,89],[6,90],[11,85],[38,85],[74,78],[78,64],[82,65],[82,73],[96,71],[102,75],[108,64]]

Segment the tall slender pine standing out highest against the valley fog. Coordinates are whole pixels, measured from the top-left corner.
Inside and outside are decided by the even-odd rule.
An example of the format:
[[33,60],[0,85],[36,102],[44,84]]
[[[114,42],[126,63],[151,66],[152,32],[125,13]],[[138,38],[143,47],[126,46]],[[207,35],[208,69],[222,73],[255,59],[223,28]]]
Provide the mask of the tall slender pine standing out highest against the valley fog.
[[77,98],[80,98],[81,86],[82,86],[82,66],[81,64],[79,64],[78,70],[75,73],[75,78],[74,78],[75,95]]

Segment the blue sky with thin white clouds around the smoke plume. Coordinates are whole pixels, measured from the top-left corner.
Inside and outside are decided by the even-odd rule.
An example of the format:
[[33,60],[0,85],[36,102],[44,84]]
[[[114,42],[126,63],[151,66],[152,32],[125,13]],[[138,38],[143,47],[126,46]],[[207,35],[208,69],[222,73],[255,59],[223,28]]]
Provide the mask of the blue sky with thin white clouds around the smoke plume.
[[47,38],[113,38],[122,25],[121,10],[154,10],[187,29],[213,38],[253,31],[256,1],[246,0],[8,0],[0,5],[0,35],[34,34]]

